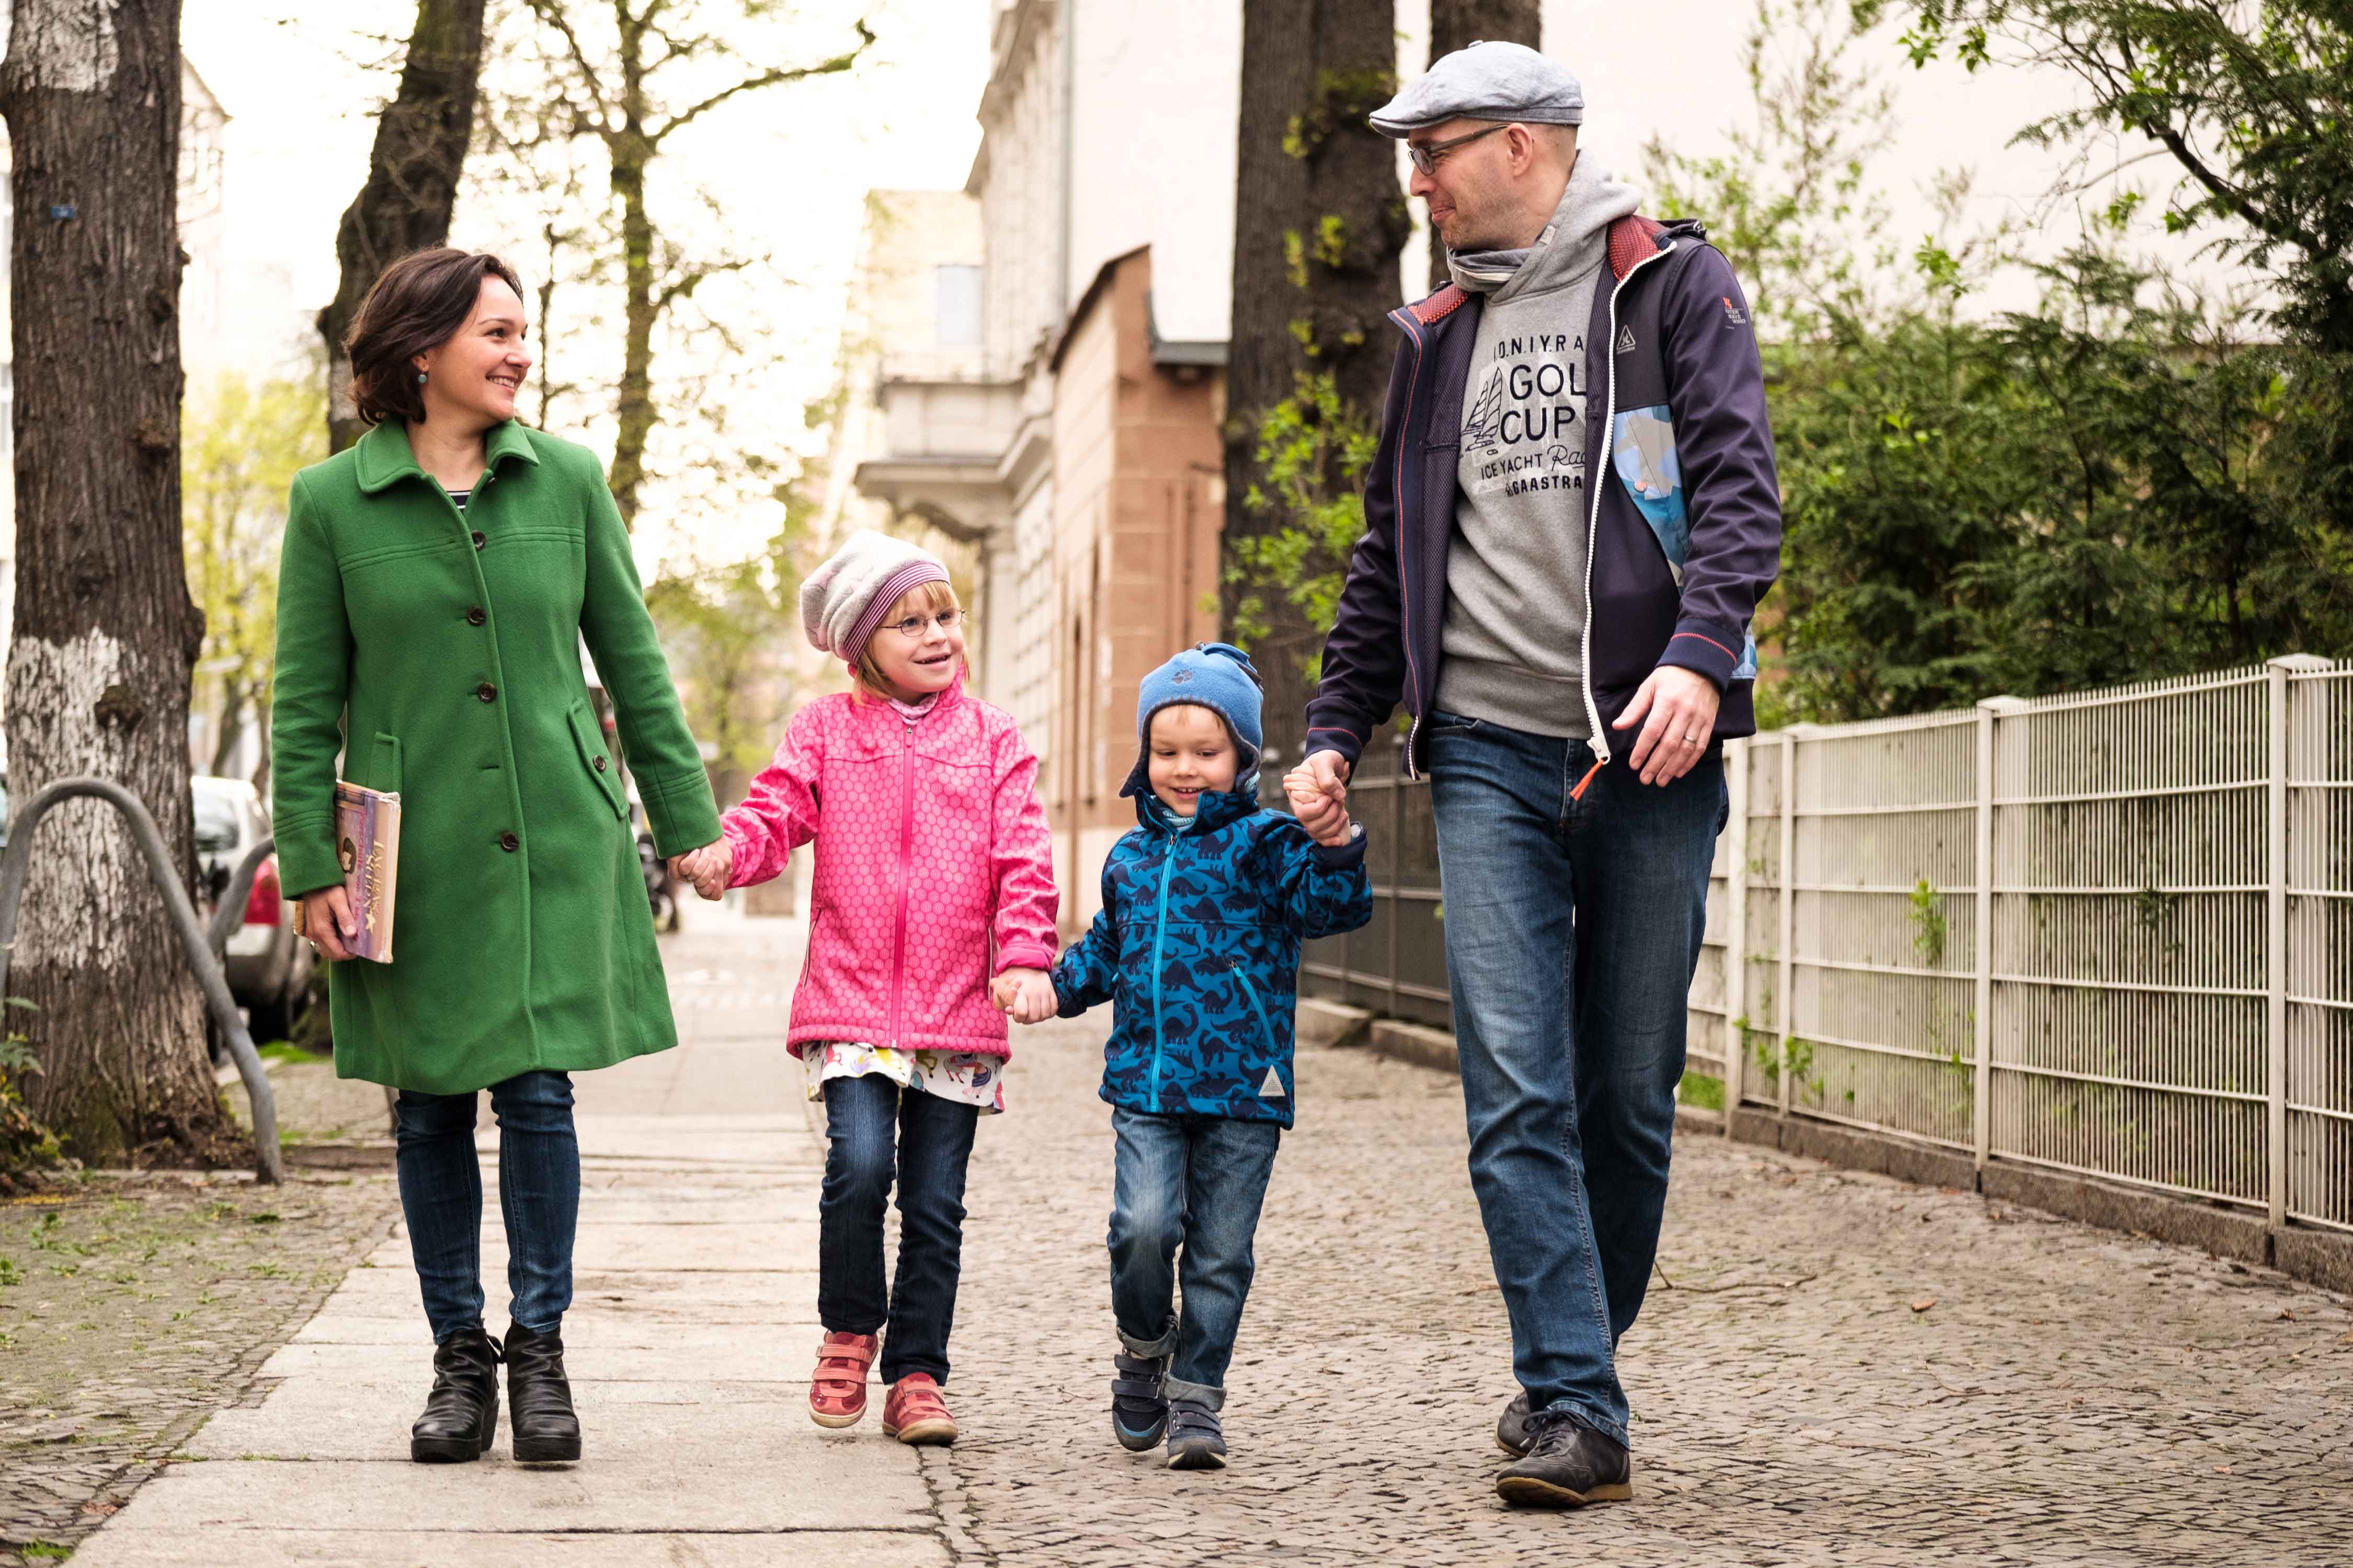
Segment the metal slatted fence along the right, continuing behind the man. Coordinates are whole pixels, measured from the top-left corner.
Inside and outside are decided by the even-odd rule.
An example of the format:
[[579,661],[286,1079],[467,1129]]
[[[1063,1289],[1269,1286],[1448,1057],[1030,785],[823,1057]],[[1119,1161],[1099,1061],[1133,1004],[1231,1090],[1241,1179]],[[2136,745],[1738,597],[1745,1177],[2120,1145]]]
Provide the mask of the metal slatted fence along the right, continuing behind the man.
[[[1692,1070],[1734,1105],[2353,1229],[2353,663],[1725,748]],[[1311,994],[1447,1023],[1428,790]],[[1739,954],[1734,961],[1732,954]]]

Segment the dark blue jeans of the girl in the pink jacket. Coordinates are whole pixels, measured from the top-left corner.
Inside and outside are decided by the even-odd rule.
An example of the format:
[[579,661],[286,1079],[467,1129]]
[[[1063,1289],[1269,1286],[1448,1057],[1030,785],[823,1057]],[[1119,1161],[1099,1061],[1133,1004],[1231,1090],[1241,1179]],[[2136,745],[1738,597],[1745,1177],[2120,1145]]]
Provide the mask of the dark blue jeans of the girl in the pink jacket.
[[[816,1208],[816,1321],[882,1333],[882,1382],[948,1382],[965,1253],[965,1161],[979,1105],[882,1074],[826,1079],[826,1187]],[[896,1150],[892,1140],[896,1138]],[[882,1288],[882,1206],[899,1187],[899,1276]]]

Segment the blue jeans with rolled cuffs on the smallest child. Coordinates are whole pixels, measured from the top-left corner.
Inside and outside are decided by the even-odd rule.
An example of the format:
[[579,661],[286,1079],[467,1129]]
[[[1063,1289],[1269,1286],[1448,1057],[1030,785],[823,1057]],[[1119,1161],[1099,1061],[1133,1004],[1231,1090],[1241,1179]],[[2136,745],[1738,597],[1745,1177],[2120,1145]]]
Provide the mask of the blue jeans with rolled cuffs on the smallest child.
[[[1111,1321],[1132,1356],[1167,1356],[1169,1399],[1226,1403],[1242,1328],[1259,1206],[1282,1126],[1231,1117],[1148,1117],[1111,1107]],[[1176,1246],[1184,1244],[1184,1314]]]

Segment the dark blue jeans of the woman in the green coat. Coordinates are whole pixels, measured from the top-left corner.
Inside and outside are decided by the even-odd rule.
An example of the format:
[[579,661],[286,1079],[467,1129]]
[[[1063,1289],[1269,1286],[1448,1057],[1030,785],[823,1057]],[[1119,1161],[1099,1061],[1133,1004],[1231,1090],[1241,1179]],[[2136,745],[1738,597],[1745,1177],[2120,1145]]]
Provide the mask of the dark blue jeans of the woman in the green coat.
[[[581,1218],[581,1145],[572,1079],[518,1072],[489,1086],[499,1117],[499,1213],[506,1218],[511,1321],[544,1333],[572,1305],[572,1234]],[[400,1213],[426,1298],[433,1342],[482,1326],[482,1166],[473,1152],[475,1095],[402,1088],[393,1103]]]

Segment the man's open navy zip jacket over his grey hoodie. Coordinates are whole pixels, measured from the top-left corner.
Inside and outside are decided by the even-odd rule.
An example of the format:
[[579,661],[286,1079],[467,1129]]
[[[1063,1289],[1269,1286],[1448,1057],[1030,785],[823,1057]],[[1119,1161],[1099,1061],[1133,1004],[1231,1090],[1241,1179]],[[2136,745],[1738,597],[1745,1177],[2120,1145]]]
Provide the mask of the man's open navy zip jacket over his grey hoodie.
[[[1624,766],[1640,731],[1609,724],[1659,665],[1715,682],[1715,736],[1755,733],[1758,599],[1781,567],[1781,489],[1755,329],[1732,263],[1699,223],[1609,226],[1609,275],[1593,289],[1586,376],[1584,698],[1598,762]],[[1388,376],[1381,444],[1365,477],[1365,538],[1348,562],[1308,750],[1355,766],[1402,701],[1407,769],[1428,762],[1421,719],[1447,623],[1464,383],[1482,301],[1447,284],[1391,313],[1405,334]],[[1600,388],[1607,388],[1602,395]]]

